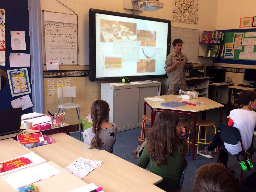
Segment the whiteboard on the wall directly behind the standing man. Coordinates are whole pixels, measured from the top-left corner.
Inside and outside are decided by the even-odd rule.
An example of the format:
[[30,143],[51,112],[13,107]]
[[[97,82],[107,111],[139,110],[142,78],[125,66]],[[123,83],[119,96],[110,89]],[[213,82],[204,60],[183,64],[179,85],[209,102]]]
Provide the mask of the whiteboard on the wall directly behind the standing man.
[[[183,41],[181,51],[188,57],[188,62],[198,63],[200,30],[172,27],[171,43],[174,39]],[[171,47],[171,53],[174,53],[173,47]]]

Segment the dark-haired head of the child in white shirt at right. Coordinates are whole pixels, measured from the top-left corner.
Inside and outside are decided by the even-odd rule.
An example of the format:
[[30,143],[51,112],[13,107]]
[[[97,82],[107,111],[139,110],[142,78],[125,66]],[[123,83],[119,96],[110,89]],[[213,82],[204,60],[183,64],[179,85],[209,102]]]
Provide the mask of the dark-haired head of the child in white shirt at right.
[[256,93],[253,91],[242,91],[239,94],[240,104],[248,106],[251,110],[255,110],[256,106]]

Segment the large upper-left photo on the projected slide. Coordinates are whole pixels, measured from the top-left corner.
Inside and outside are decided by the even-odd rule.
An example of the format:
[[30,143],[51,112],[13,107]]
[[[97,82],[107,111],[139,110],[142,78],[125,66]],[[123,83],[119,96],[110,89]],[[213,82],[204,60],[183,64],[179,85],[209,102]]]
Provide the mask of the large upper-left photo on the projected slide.
[[136,30],[136,23],[101,19],[100,41],[111,43],[115,39],[133,41],[137,39]]

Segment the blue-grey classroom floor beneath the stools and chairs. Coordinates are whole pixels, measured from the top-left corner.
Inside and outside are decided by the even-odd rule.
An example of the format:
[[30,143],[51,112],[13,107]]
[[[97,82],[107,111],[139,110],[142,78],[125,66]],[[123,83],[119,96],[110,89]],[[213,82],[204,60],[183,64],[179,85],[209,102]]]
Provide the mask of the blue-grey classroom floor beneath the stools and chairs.
[[[223,111],[223,123],[227,123],[228,119],[225,116],[226,112]],[[201,118],[201,114],[196,115],[198,119]],[[219,112],[216,114],[214,113],[214,110],[207,111],[207,119],[213,120],[215,122],[215,125],[219,124]],[[137,164],[139,159],[132,159],[131,153],[134,149],[137,148],[139,141],[137,140],[137,137],[140,135],[141,128],[135,128],[127,131],[122,131],[117,133],[116,142],[114,145],[113,154],[115,154],[118,157],[121,157],[131,163]],[[73,132],[70,133],[72,137],[75,137],[79,139],[79,133]],[[213,127],[209,127],[207,129],[207,140],[211,140],[214,136],[214,129]],[[83,139],[82,139],[83,140]],[[255,147],[255,146],[254,146]],[[204,145],[200,145],[199,149],[204,148]],[[196,149],[195,149],[196,151]],[[218,152],[217,154],[214,154],[213,159],[208,159],[203,156],[197,156],[195,155],[195,160],[191,160],[191,156],[186,155],[186,159],[188,160],[188,168],[185,173],[185,178],[183,182],[183,186],[181,191],[182,192],[191,192],[193,188],[193,183],[196,175],[197,169],[205,164],[208,163],[215,163],[217,162]],[[255,165],[255,158],[253,157],[252,163]],[[228,167],[230,170],[235,171],[235,176],[240,178],[240,164],[238,163],[236,156],[229,155],[228,157]],[[147,167],[149,170],[149,166]],[[244,172],[244,178],[252,172],[255,172],[256,168],[254,166],[253,170],[245,171]]]

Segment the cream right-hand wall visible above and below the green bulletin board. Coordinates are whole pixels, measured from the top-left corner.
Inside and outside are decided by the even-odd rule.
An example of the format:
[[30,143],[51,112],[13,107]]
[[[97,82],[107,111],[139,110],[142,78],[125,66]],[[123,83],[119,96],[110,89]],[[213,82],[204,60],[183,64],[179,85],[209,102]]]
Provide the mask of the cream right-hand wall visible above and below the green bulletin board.
[[[255,0],[219,0],[217,11],[216,30],[221,29],[239,29],[239,22],[241,17],[253,17],[255,14]],[[240,28],[242,29],[242,28]],[[247,29],[247,28],[244,28]],[[231,71],[234,68],[256,68],[253,65],[238,65],[238,64],[225,64],[216,63],[215,66],[229,67]],[[226,72],[226,78],[232,78],[235,85],[249,84],[243,82],[243,73],[239,72]],[[214,92],[213,92],[214,94]],[[228,91],[227,88],[219,90],[218,102],[227,103]]]

